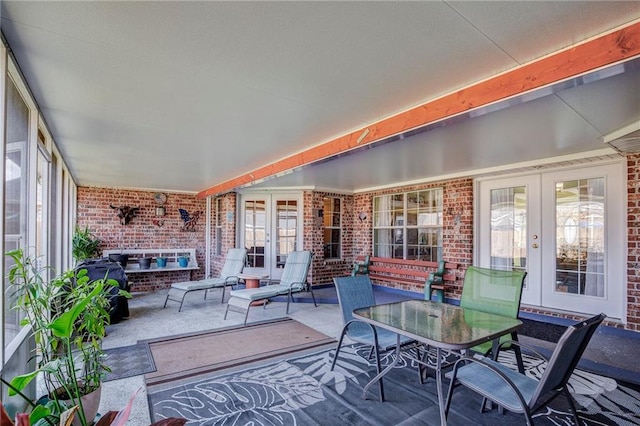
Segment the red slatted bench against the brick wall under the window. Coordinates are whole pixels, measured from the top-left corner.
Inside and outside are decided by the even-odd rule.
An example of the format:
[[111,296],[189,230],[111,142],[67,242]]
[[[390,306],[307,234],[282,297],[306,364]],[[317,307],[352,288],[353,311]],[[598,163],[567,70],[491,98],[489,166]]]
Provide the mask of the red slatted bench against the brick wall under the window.
[[451,272],[458,269],[457,263],[444,262],[443,270],[439,271],[439,262],[426,260],[368,257],[368,265],[366,265],[366,260],[367,257],[364,256],[356,257],[354,273],[368,271],[374,281],[423,286],[425,298],[429,294],[429,299],[431,299],[431,294],[435,291],[436,300],[439,302],[444,301],[444,290],[447,283],[454,283],[457,280],[455,273]]

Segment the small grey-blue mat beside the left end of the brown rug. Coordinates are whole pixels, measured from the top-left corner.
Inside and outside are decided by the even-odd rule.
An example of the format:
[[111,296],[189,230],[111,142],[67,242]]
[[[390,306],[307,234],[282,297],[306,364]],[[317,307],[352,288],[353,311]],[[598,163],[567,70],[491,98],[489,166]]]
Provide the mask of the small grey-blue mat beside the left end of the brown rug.
[[105,364],[111,369],[105,382],[156,371],[153,356],[146,343],[105,349]]

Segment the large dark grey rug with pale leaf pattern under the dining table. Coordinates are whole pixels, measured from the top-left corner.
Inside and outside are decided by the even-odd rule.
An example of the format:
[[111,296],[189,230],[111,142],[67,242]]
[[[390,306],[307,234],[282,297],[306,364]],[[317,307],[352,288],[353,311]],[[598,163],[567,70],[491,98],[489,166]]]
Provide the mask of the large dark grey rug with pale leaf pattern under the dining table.
[[[416,368],[408,365],[411,360],[405,356],[398,368],[385,376],[386,401],[378,400],[377,386],[363,399],[363,386],[375,372],[365,361],[368,351],[363,346],[345,346],[333,372],[333,350],[307,351],[239,371],[194,377],[179,385],[151,387],[151,419],[178,416],[186,418],[187,424],[203,425],[439,425],[435,381],[429,378],[420,385]],[[513,365],[510,352],[505,352],[501,361]],[[384,364],[392,356],[384,357]],[[525,363],[536,367],[527,356]],[[533,371],[539,374],[540,366]],[[571,391],[586,425],[640,424],[638,388],[576,370]],[[456,389],[449,424],[524,424],[522,415],[501,415],[497,409],[480,413],[480,403],[476,394]],[[534,421],[536,425],[571,425],[566,400],[557,398],[536,414]]]

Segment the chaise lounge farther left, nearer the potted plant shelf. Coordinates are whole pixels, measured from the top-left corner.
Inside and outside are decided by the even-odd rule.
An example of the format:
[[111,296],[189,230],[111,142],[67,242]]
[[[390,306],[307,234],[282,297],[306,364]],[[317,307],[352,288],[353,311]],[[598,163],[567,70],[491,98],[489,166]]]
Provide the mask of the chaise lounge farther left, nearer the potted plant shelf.
[[182,304],[187,293],[192,291],[204,290],[204,298],[207,298],[207,292],[214,288],[222,288],[222,300],[224,303],[224,293],[227,286],[235,286],[238,284],[238,275],[242,272],[242,268],[246,263],[247,250],[243,248],[233,248],[227,252],[227,256],[217,278],[207,278],[199,281],[183,281],[171,284],[167,298],[164,300],[164,306],[172,300],[180,302],[178,312],[182,310]]

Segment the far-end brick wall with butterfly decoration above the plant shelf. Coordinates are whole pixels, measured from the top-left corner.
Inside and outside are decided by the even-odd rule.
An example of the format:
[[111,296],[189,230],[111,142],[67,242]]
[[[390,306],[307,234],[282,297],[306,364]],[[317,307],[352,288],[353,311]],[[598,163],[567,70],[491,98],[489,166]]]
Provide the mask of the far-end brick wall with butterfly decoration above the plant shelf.
[[[101,249],[195,248],[200,270],[128,274],[132,291],[154,291],[172,282],[204,277],[205,265],[205,200],[195,195],[167,193],[164,217],[155,216],[156,202],[150,191],[78,187],[79,227],[89,227],[102,240]],[[121,225],[113,206],[140,207],[136,217]],[[195,231],[182,231],[183,220],[178,209],[202,212]]]

